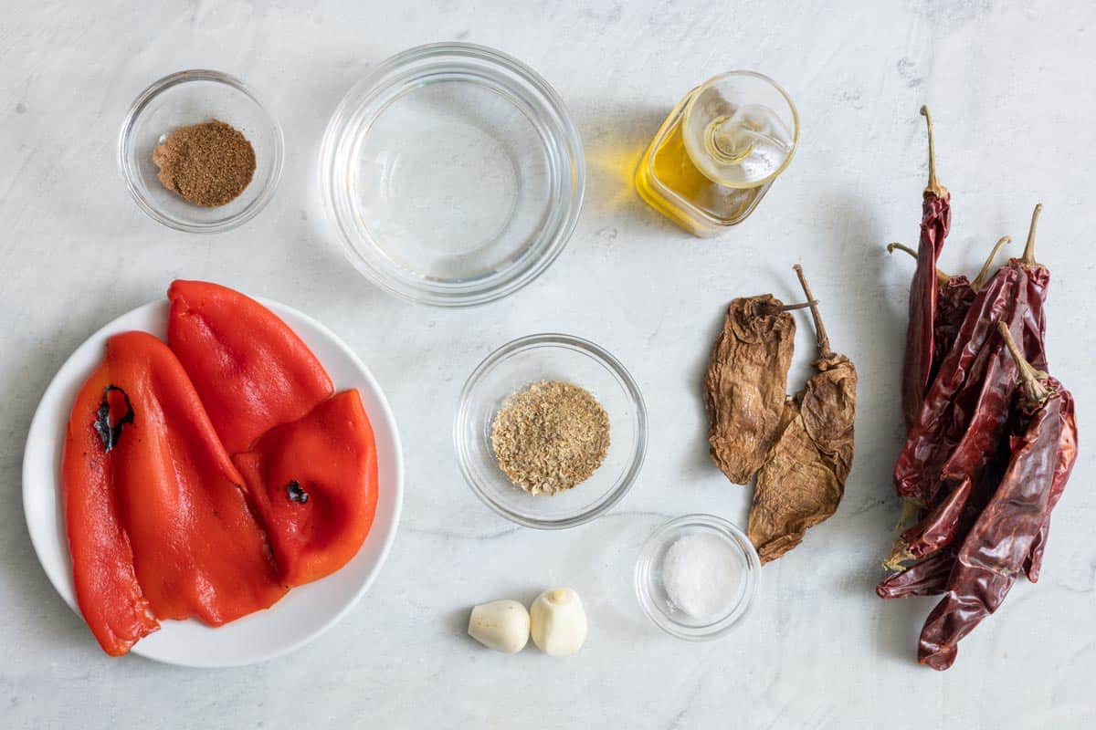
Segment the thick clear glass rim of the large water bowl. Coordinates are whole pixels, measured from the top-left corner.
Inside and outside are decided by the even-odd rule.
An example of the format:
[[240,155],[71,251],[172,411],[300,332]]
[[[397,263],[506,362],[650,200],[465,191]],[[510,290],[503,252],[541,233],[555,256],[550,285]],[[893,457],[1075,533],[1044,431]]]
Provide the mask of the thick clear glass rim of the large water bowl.
[[[486,61],[493,67],[492,70],[501,73],[502,79],[516,77],[529,84],[539,94],[540,101],[550,112],[553,126],[559,127],[555,130],[552,140],[561,150],[566,151],[571,167],[571,193],[566,200],[567,207],[556,225],[555,234],[546,242],[540,252],[523,264],[521,270],[501,281],[490,282],[486,287],[475,281],[460,285],[432,285],[410,277],[400,277],[398,274],[378,266],[355,250],[354,241],[358,240],[359,234],[356,229],[352,230],[343,220],[336,200],[335,176],[339,170],[336,155],[340,139],[357,109],[376,104],[379,113],[383,113],[387,103],[380,103],[378,100],[390,101],[390,97],[393,97],[408,84],[413,83],[415,79],[445,70],[445,67],[439,65],[416,68],[416,63],[421,61],[439,62],[445,57],[454,57],[455,60]],[[465,69],[460,67],[449,69],[450,72],[463,70]],[[515,95],[527,96],[527,92]],[[369,124],[377,116],[378,114],[373,114]],[[365,78],[351,86],[340,100],[323,134],[319,161],[320,194],[328,217],[338,233],[343,255],[362,276],[381,290],[404,301],[434,306],[466,308],[487,304],[512,294],[534,281],[567,247],[567,243],[578,224],[585,195],[586,169],[582,139],[563,100],[539,73],[522,61],[494,48],[471,43],[432,43],[415,46],[400,51],[378,65]],[[557,212],[559,211],[557,210]],[[379,246],[372,237],[366,236],[365,243],[379,251]],[[510,271],[509,268],[504,270]]]

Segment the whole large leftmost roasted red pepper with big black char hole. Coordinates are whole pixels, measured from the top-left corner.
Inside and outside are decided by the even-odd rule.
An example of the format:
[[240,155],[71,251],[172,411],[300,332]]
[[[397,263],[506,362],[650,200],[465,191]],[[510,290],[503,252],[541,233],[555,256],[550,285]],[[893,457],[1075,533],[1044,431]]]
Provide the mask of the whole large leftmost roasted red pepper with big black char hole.
[[285,593],[241,484],[171,350],[147,333],[112,337],[62,465],[77,596],[107,653],[155,630],[146,607],[218,626]]

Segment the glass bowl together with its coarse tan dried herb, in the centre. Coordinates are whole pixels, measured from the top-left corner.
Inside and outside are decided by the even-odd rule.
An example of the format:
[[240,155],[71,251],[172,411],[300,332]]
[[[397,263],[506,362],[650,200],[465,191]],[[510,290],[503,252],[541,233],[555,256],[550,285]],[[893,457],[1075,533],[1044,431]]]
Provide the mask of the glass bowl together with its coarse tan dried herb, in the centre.
[[454,424],[460,470],[517,524],[582,524],[631,488],[647,452],[647,409],[628,371],[570,335],[522,337],[469,376]]

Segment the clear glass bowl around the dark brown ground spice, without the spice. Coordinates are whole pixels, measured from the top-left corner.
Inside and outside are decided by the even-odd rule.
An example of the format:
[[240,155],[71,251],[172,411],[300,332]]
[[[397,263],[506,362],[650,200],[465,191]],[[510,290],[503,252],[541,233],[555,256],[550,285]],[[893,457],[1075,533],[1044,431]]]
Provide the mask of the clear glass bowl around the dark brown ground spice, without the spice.
[[[165,188],[152,149],[173,130],[219,119],[255,150],[255,172],[235,200],[196,206]],[[282,128],[242,81],[220,71],[179,71],[140,93],[118,135],[118,165],[137,205],[152,219],[180,231],[217,233],[244,223],[263,209],[282,175]]]

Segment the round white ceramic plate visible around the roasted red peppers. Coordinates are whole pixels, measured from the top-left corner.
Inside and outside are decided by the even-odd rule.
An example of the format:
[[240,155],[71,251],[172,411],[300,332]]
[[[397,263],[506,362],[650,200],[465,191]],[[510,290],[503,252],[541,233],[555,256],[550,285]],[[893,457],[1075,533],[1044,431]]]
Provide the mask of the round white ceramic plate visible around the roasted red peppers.
[[[339,391],[356,387],[377,440],[378,498],[373,529],[354,559],[338,572],[295,588],[266,611],[210,628],[197,621],[163,621],[134,653],[186,667],[233,667],[296,649],[333,626],[369,588],[385,563],[403,501],[403,460],[396,420],[380,386],[330,329],[300,312],[263,301],[312,349]],[[165,337],[168,301],[139,306],[88,338],[54,376],[31,422],[23,453],[23,509],[31,541],[54,588],[79,613],[65,536],[60,462],[72,398],[101,361],[106,339],[130,329]],[[90,646],[90,642],[89,642]]]

